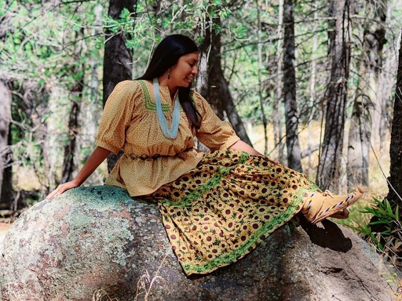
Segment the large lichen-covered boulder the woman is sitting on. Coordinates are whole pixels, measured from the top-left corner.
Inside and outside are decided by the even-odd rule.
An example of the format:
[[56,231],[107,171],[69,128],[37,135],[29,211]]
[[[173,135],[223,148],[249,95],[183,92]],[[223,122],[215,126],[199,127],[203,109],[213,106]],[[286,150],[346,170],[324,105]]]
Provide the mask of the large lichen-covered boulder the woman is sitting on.
[[186,277],[157,204],[114,186],[79,187],[37,203],[10,228],[0,299],[92,300],[102,288],[120,301],[144,299],[145,289],[148,300],[390,300],[384,269],[349,229],[296,216],[238,262]]

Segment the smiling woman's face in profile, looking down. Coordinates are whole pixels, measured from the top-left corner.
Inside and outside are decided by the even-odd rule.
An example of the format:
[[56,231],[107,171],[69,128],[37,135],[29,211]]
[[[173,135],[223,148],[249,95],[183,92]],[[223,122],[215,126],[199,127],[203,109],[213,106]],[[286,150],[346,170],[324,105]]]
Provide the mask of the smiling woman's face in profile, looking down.
[[170,81],[179,87],[188,87],[198,73],[198,52],[191,52],[181,56],[177,64],[170,68]]

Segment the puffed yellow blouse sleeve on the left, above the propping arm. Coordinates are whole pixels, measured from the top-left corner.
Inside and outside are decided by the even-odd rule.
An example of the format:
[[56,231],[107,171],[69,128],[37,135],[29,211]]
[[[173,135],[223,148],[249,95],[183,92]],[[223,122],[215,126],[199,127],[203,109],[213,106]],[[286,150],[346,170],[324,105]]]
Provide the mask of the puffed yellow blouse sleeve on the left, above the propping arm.
[[95,144],[117,155],[126,141],[126,127],[134,110],[133,81],[119,82],[109,95],[100,118]]

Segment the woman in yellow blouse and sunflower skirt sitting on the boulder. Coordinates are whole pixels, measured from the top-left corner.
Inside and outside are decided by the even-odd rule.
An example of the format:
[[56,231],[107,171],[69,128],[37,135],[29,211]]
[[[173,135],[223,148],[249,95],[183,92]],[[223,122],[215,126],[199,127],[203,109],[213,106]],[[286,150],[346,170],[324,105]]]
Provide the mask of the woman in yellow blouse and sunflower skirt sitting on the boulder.
[[[156,48],[145,74],[116,85],[77,177],[47,198],[80,186],[113,152],[124,155],[106,185],[159,204],[172,249],[186,274],[208,273],[250,252],[302,211],[313,224],[347,218],[362,191],[333,195],[304,174],[265,158],[240,140],[208,102],[191,93],[198,48],[171,35]],[[197,152],[193,137],[211,152]]]

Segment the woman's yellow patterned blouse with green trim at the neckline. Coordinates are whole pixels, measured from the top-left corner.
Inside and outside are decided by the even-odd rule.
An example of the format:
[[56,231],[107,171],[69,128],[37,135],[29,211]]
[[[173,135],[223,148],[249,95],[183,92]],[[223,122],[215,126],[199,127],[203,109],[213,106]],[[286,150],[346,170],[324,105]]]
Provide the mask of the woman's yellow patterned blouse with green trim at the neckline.
[[[162,110],[170,128],[173,101],[167,86],[159,89]],[[125,80],[118,83],[105,104],[95,140],[96,145],[114,154],[120,149],[124,151],[105,184],[122,187],[132,197],[150,194],[195,168],[202,159],[202,153],[197,155],[194,148],[194,135],[211,150],[228,148],[240,140],[232,125],[222,121],[203,96],[194,92],[192,99],[202,116],[201,127],[191,130],[180,107],[177,137],[171,139],[160,129],[152,82]]]

